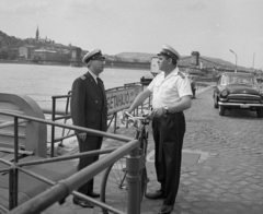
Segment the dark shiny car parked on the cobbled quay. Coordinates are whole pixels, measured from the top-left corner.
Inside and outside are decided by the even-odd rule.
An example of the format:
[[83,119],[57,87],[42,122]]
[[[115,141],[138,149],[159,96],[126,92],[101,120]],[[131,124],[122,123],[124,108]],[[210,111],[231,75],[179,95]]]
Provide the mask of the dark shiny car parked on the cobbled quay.
[[226,72],[218,76],[213,94],[214,107],[224,116],[226,110],[245,109],[263,117],[263,92],[251,73]]

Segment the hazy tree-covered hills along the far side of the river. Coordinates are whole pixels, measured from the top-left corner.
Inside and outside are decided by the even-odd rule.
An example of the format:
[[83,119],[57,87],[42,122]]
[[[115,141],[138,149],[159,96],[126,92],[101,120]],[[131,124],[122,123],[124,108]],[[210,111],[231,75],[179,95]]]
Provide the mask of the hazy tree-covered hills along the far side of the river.
[[[65,64],[70,63],[72,50],[79,47],[69,45],[57,44],[52,39],[35,39],[35,38],[16,38],[14,36],[9,36],[0,31],[0,60],[15,60],[19,59],[19,48],[20,47],[33,47],[34,49],[46,49],[56,51],[59,55],[59,59]],[[82,50],[81,55],[85,55],[88,50]],[[107,67],[135,67],[135,68],[150,68],[151,58],[156,54],[142,54],[142,52],[121,52],[115,56],[105,55]],[[190,58],[191,56],[185,56],[182,58]],[[208,68],[235,68],[231,62],[224,61],[221,59],[201,57],[204,64]],[[55,59],[54,59],[55,60]],[[180,66],[188,67],[191,66],[191,60],[181,60]],[[37,62],[37,60],[32,59],[32,62]],[[253,70],[252,68],[247,69],[239,67],[241,70],[255,71],[262,73],[261,70]]]

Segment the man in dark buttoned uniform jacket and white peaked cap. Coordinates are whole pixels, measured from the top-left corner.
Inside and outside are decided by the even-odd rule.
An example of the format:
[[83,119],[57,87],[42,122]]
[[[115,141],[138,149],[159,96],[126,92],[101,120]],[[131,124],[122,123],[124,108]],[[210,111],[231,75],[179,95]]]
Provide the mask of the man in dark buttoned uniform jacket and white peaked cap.
[[[103,82],[99,79],[99,74],[104,69],[105,58],[100,49],[94,49],[88,52],[82,61],[87,64],[88,72],[76,79],[72,84],[70,109],[73,124],[106,131],[107,102]],[[101,148],[102,136],[77,131],[77,138],[80,153]],[[99,156],[81,157],[78,170],[98,159]],[[93,179],[89,180],[78,191],[92,198],[99,198],[100,194],[93,191]],[[93,207],[92,204],[79,198],[73,198],[73,203],[83,207]]]

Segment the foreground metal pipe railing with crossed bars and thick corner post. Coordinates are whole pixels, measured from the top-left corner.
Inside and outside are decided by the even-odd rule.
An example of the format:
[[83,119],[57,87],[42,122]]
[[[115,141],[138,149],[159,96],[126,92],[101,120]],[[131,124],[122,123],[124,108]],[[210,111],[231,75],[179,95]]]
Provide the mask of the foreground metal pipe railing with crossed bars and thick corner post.
[[[35,117],[18,115],[18,114],[13,114],[13,112],[0,111],[0,115],[11,116],[14,118],[14,162],[11,163],[11,162],[0,158],[0,162],[10,166],[10,168],[0,169],[1,173],[9,173],[9,181],[10,181],[9,210],[12,210],[10,212],[10,214],[39,213],[56,202],[59,202],[60,204],[64,203],[65,199],[69,194],[73,194],[83,200],[88,200],[91,203],[93,203],[94,205],[107,209],[114,213],[123,214],[123,212],[119,212],[102,202],[98,202],[98,201],[93,200],[92,198],[83,195],[75,190],[78,189],[83,183],[85,183],[87,180],[90,180],[95,175],[98,175],[99,173],[104,170],[106,167],[108,167],[110,165],[115,163],[117,159],[119,159],[121,157],[123,157],[127,154],[129,154],[129,156],[127,157],[127,160],[134,162],[134,164],[127,165],[127,176],[129,178],[132,178],[132,179],[127,179],[127,187],[128,187],[127,213],[128,214],[139,214],[140,213],[140,204],[139,204],[138,200],[136,200],[136,199],[138,199],[138,195],[139,195],[139,170],[140,170],[140,166],[138,166],[136,163],[138,163],[138,159],[141,158],[141,156],[139,155],[138,140],[134,140],[134,139],[130,139],[127,136],[122,136],[118,134],[106,133],[106,132],[102,132],[102,131],[77,127],[77,126],[72,126],[72,124],[58,123],[58,122],[54,122],[54,121],[49,121],[49,120],[45,120],[45,119],[35,118]],[[62,157],[19,163],[18,133],[19,133],[19,119],[20,118],[27,120],[27,121],[35,121],[35,122],[45,123],[48,126],[60,127],[60,128],[66,128],[66,129],[70,129],[70,130],[78,130],[81,132],[92,133],[95,135],[123,141],[123,142],[126,142],[126,144],[118,148],[113,147],[113,148],[106,148],[106,150],[85,152],[85,153],[81,153],[78,155],[70,155],[70,156],[62,156]],[[89,165],[88,167],[85,167],[84,169],[70,176],[69,178],[60,180],[58,182],[55,182],[55,181],[49,180],[41,175],[33,173],[31,170],[22,168],[23,166],[28,166],[28,165],[61,162],[61,160],[66,160],[66,159],[79,158],[82,156],[92,156],[92,155],[106,154],[106,153],[111,153],[111,154],[104,156],[103,158],[99,159],[98,162],[93,163],[92,165]],[[19,171],[30,175],[30,176],[32,176],[38,180],[42,180],[53,187],[50,189],[42,192],[41,194],[36,195],[35,198],[28,200],[27,202],[21,204],[20,206],[18,206]],[[129,191],[129,190],[133,190],[133,191]],[[4,207],[2,207],[2,210],[7,211]]]

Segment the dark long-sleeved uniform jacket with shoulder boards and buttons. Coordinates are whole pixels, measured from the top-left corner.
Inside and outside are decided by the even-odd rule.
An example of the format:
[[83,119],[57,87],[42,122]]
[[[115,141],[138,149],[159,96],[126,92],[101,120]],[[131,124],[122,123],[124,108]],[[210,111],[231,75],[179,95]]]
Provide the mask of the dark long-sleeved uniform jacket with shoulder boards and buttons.
[[101,80],[99,82],[102,92],[89,72],[75,80],[70,102],[75,126],[106,131],[107,102],[104,84]]

